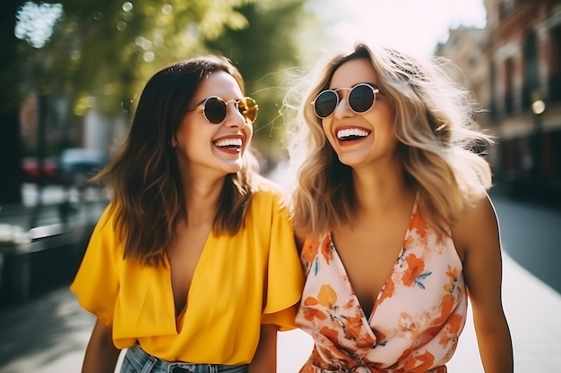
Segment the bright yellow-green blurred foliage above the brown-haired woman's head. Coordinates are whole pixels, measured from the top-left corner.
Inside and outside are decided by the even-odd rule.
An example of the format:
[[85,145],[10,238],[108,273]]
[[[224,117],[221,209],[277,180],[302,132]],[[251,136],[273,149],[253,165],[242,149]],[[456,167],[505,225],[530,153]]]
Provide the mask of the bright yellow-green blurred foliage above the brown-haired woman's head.
[[217,38],[226,28],[246,27],[236,7],[251,1],[59,3],[65,15],[45,47],[56,59],[52,68],[70,86],[74,114],[95,105],[110,115],[118,113],[155,70],[201,53],[204,40]]

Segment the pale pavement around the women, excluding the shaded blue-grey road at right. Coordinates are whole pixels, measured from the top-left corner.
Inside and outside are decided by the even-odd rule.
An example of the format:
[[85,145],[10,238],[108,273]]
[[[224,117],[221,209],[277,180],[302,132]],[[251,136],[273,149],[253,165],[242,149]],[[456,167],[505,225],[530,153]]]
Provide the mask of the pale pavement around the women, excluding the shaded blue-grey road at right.
[[[552,372],[561,366],[561,295],[504,255],[505,313],[517,373]],[[0,310],[0,373],[79,372],[94,318],[66,289],[20,307]],[[312,348],[299,330],[279,335],[279,373],[295,373]],[[451,373],[483,372],[471,319],[448,364]]]

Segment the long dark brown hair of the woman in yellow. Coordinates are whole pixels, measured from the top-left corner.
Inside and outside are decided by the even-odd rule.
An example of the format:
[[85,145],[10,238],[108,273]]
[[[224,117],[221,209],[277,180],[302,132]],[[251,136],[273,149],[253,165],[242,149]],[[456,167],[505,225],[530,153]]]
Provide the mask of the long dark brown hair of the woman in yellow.
[[[115,229],[125,242],[125,259],[158,266],[175,242],[177,221],[186,216],[186,200],[170,142],[201,82],[219,71],[234,77],[244,92],[240,72],[218,55],[195,57],[156,72],[142,90],[123,147],[92,179],[112,195],[110,213],[115,214]],[[253,150],[247,147],[242,169],[226,176],[213,233],[233,235],[242,227],[257,171]]]

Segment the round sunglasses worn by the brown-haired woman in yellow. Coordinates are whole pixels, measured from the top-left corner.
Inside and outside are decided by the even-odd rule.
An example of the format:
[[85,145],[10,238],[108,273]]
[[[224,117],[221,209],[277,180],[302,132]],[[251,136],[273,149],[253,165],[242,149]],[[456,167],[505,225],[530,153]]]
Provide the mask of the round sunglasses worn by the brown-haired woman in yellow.
[[224,122],[224,119],[226,119],[228,105],[230,102],[234,103],[236,109],[244,117],[246,124],[254,123],[255,118],[257,118],[257,110],[259,109],[259,106],[252,97],[224,101],[221,97],[211,96],[206,98],[203,101],[203,104],[195,107],[194,109],[186,110],[186,112],[203,110],[204,118],[207,121],[213,124],[219,124]]

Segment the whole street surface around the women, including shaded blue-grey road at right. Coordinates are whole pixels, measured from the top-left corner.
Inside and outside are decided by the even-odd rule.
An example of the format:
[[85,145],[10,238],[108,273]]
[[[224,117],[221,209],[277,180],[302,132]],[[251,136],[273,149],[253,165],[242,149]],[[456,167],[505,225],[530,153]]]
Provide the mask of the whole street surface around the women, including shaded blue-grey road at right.
[[[559,263],[556,255],[561,213],[499,196],[494,200],[505,250],[503,296],[513,335],[515,370],[559,371],[561,295],[554,286],[559,284],[555,269]],[[532,275],[519,260],[529,261],[531,268],[539,266],[537,275],[547,277],[549,284]],[[79,371],[93,321],[65,288],[17,307],[0,309],[0,373]],[[310,350],[311,341],[303,332],[281,333],[279,373],[297,372]],[[483,371],[471,319],[448,370]]]

